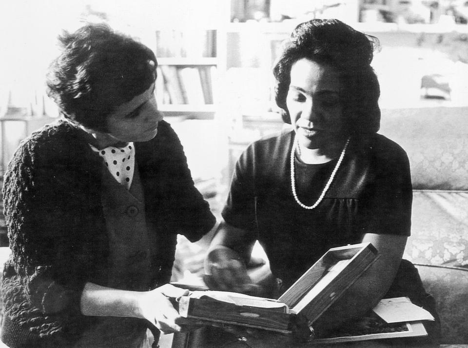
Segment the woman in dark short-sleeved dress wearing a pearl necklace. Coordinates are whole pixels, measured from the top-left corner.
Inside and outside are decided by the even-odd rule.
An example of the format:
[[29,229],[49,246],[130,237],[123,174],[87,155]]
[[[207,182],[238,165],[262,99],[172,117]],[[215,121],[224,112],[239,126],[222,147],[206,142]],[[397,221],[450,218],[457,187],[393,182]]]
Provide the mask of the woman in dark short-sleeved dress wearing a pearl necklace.
[[[370,62],[377,45],[339,20],[311,20],[292,32],[273,68],[275,100],[292,131],[256,141],[240,156],[206,259],[210,287],[278,296],[329,248],[370,242],[379,259],[315,331],[358,319],[384,297],[409,296],[437,316],[416,269],[402,261],[409,161],[376,133],[380,89]],[[272,271],[260,284],[245,266],[256,240]]]

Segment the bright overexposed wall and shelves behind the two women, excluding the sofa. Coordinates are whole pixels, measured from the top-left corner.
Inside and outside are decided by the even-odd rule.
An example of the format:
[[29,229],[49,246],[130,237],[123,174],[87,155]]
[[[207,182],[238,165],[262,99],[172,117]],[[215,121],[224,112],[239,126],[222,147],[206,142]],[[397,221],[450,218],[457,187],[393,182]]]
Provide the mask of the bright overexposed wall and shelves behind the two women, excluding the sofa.
[[[468,110],[465,0],[3,0],[0,174],[23,138],[59,117],[44,84],[57,36],[106,21],[155,51],[159,108],[219,218],[240,152],[283,127],[271,68],[294,26],[312,18],[337,18],[380,40],[372,65],[383,115]],[[7,246],[1,219],[0,232]],[[201,273],[210,238],[179,240],[174,280]]]

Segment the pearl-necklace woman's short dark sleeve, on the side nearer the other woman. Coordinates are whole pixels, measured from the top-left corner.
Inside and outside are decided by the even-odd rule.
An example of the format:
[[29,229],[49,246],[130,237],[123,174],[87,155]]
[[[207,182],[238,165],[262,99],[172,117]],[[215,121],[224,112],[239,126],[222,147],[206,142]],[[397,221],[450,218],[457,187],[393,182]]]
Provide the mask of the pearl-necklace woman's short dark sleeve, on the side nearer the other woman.
[[229,195],[221,213],[229,225],[251,231],[256,229],[254,146],[247,147],[235,164]]

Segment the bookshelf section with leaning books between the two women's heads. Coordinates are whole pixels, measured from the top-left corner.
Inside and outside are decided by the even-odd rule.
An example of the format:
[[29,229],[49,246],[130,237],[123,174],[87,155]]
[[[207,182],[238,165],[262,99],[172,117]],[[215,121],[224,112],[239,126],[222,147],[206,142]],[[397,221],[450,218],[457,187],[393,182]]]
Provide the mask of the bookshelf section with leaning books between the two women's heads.
[[219,62],[217,31],[156,30],[156,100],[167,116],[213,118]]

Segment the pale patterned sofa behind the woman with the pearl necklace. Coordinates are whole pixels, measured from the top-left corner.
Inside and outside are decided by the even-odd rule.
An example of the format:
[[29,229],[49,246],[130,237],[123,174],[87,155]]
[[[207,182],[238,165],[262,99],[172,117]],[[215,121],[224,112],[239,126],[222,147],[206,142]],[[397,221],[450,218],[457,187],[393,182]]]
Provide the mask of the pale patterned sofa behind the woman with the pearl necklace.
[[468,347],[468,109],[382,111],[379,133],[408,153],[413,262],[436,300],[442,344]]

